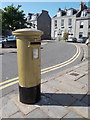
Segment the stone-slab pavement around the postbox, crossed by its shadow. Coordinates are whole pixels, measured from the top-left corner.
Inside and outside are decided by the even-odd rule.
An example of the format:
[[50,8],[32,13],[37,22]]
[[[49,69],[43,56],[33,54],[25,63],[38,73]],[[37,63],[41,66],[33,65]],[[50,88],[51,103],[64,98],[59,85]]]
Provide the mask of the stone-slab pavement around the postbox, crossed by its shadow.
[[90,119],[89,48],[80,64],[46,80],[41,79],[41,100],[32,105],[19,102],[17,88],[0,97],[0,118]]

